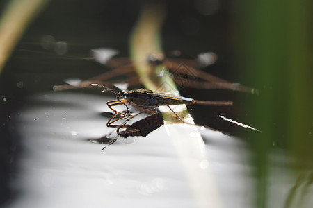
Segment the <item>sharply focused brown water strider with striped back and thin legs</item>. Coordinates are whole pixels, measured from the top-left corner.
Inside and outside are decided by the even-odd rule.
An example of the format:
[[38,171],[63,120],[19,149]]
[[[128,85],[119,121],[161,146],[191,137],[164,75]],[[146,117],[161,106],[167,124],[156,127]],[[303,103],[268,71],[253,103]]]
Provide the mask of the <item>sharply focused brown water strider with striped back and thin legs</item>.
[[[127,122],[130,119],[133,119],[134,117],[138,116],[139,114],[143,113],[150,113],[152,115],[159,114],[159,110],[157,110],[157,107],[159,106],[167,106],[174,114],[179,118],[180,121],[186,123],[181,116],[177,114],[170,105],[232,105],[232,101],[198,101],[193,98],[186,98],[183,96],[175,96],[172,94],[163,94],[163,93],[154,93],[150,89],[134,89],[134,90],[122,90],[120,92],[116,92],[115,90],[106,87],[104,85],[99,84],[91,84],[93,87],[102,87],[104,90],[102,92],[110,91],[113,92],[116,95],[116,100],[114,101],[108,101],[106,104],[108,107],[115,113],[109,119],[109,121],[106,123],[106,126],[117,128],[118,135],[122,137],[129,137],[129,136],[142,136],[143,135],[143,129],[149,131],[150,129],[154,128],[154,125],[151,125],[154,121],[160,121],[159,117],[150,117],[150,119],[154,119],[153,122],[147,121],[148,124],[145,124],[146,127],[141,128],[140,125],[143,125],[145,121],[134,123],[132,126],[127,124]],[[123,98],[121,98],[123,97]],[[129,112],[129,107],[126,105],[129,104],[131,106],[136,107],[137,110],[139,110],[136,114],[131,114]],[[125,105],[127,107],[127,110],[125,112],[119,112],[118,110],[115,110],[113,106],[117,105]],[[115,119],[116,116],[119,116],[117,119]],[[120,121],[122,119],[125,119],[122,124],[115,125],[117,121]],[[163,122],[163,119],[161,120]],[[160,123],[160,122],[159,122]],[[190,124],[190,123],[188,123]],[[136,125],[136,127],[134,127]],[[157,127],[159,128],[159,126]],[[125,129],[125,131],[120,131],[120,129]],[[152,130],[151,130],[152,131]],[[150,131],[150,132],[151,132]],[[107,146],[110,144],[113,144],[114,141],[116,141],[117,138],[113,139]]]

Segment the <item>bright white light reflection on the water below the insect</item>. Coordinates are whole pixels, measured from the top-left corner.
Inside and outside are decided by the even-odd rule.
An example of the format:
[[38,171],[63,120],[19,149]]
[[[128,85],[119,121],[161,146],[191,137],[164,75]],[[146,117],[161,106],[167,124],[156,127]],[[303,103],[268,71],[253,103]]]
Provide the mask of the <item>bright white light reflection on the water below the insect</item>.
[[[23,152],[17,180],[20,194],[8,207],[195,207],[180,159],[163,126],[134,143],[121,141],[101,151],[95,139],[109,134],[102,112],[113,97],[72,92],[29,98],[10,125],[22,136]],[[220,132],[199,128],[207,142],[209,168],[225,207],[253,207],[252,167],[246,144]],[[286,159],[269,178],[282,205],[293,184]],[[209,196],[208,196],[209,197]],[[280,200],[277,200],[280,199]],[[269,200],[271,201],[271,200]]]

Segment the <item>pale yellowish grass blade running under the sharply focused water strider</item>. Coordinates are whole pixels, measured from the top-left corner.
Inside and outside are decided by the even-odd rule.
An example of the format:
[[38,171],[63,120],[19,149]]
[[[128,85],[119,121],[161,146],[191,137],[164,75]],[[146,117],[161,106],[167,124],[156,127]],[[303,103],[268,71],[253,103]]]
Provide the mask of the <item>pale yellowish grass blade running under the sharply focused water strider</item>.
[[[153,67],[147,64],[148,54],[162,52],[159,34],[164,16],[165,10],[161,4],[148,4],[143,8],[131,35],[131,58],[136,66],[136,72],[147,89],[179,95],[168,73],[163,73],[163,76],[158,75],[163,70],[163,66]],[[182,160],[199,207],[222,207],[200,133],[193,125],[184,123],[168,125],[168,123],[177,123],[177,118],[168,111],[168,107],[160,107],[160,110],[166,121],[168,137]],[[185,121],[193,123],[185,105],[175,107],[175,111],[184,112]]]

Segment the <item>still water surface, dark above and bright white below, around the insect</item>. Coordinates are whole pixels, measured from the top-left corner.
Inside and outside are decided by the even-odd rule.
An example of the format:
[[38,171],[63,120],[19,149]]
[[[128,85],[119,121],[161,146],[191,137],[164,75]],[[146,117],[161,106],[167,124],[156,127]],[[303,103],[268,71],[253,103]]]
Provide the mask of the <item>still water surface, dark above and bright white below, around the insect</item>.
[[[216,2],[216,9],[204,15],[193,1],[168,1],[163,49],[179,49],[184,58],[214,51],[218,62],[204,70],[241,83],[243,76],[232,70],[231,5]],[[141,1],[51,1],[25,31],[0,76],[4,207],[196,207],[164,126],[134,143],[118,141],[101,151],[101,144],[87,140],[111,132],[102,112],[108,111],[106,101],[112,97],[99,90],[52,91],[68,78],[86,79],[108,70],[90,60],[90,49],[111,48],[129,56],[129,34],[140,5]],[[186,89],[182,94],[206,100],[255,99],[215,90]],[[218,114],[244,119],[249,114],[244,105],[190,110],[197,123],[240,135]],[[255,179],[246,138],[199,131],[223,205],[253,207]],[[287,155],[278,150],[271,157],[269,187],[275,200],[269,204],[281,207],[294,181],[284,175],[289,171]]]

